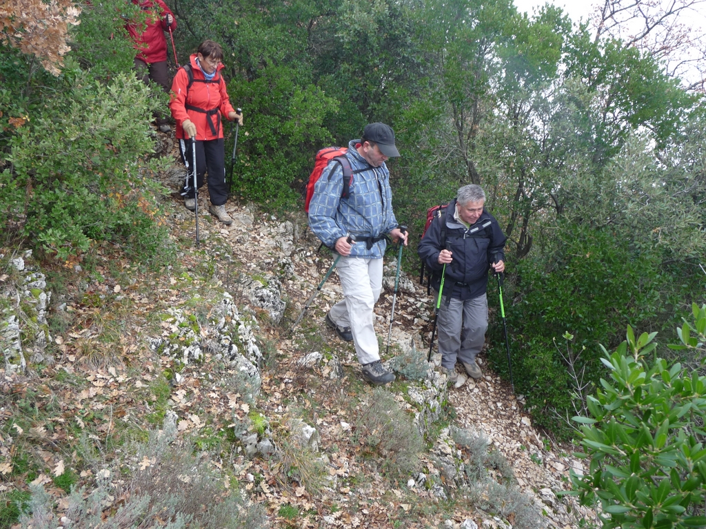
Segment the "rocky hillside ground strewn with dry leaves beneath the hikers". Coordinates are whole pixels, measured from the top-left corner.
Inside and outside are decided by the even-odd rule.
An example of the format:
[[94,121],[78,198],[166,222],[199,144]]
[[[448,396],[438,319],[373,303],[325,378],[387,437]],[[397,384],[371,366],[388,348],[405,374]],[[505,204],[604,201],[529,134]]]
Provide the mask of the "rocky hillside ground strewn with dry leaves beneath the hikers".
[[[71,327],[54,335],[37,332],[42,338],[32,362],[46,367],[13,367],[6,350],[0,420],[13,426],[0,436],[0,493],[26,490],[23,480],[51,487],[52,475],[63,475],[65,466],[76,467],[80,483],[90,482],[93,473],[110,475],[97,466],[80,470],[73,449],[78,437],[91,432],[97,442],[108,442],[121,428],[127,434],[164,420],[179,435],[196,436],[198,446],[228,452],[213,468],[228,469],[273,527],[576,528],[594,519],[575,499],[557,496],[569,485],[570,468],[584,471],[575,447],[555,444],[534,429],[522,396],[513,395],[482,355],[484,377],[457,389],[448,388],[435,368],[438,355],[426,363],[433,317],[426,287],[400,274],[390,353],[383,355],[397,381],[373,389],[361,380],[352,344],[323,322],[340,298],[335,274],[292,329],[333,262],[326,250],[318,251],[304,215],[280,219],[232,199],[226,209],[234,222],[224,226],[208,214],[201,193],[197,249],[194,215],[176,191],[182,171],[162,174],[172,190],[164,205],[172,238],[182,248],[179,262],[145,279],[99,248],[103,264],[92,276],[74,265],[76,280],[54,299]],[[24,281],[13,295],[29,300],[42,321],[52,295],[25,257],[26,268],[23,258],[12,261],[22,269],[18,284]],[[388,253],[376,305],[382,353],[394,280],[395,259]],[[114,312],[124,319],[120,337],[109,351],[99,350]],[[9,351],[21,347],[20,327],[4,332]],[[47,343],[56,348],[53,357]],[[62,385],[67,377],[71,387]],[[51,413],[41,420],[32,415],[22,427],[16,406],[28,394],[54,400]],[[373,444],[371,438],[388,427],[376,420],[393,417],[391,408],[400,408],[397,430]],[[417,437],[404,430],[409,418],[431,448],[418,460],[410,455],[402,461],[395,454],[407,457],[409,439]],[[397,445],[381,448],[390,442]],[[44,470],[20,471],[18,447],[40,454]],[[490,454],[490,470],[473,475],[481,453]],[[143,461],[140,469],[149,464]],[[509,495],[496,499],[501,489]],[[67,509],[64,491],[49,489],[60,513]],[[530,511],[537,518],[528,518]]]

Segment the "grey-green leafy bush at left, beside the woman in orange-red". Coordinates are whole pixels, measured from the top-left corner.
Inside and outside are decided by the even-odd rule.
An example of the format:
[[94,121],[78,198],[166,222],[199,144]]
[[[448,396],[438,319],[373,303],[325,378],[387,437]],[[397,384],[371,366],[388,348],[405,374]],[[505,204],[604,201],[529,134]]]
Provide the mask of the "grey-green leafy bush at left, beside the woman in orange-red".
[[102,85],[83,73],[11,140],[11,166],[0,174],[1,226],[20,231],[66,260],[93,241],[112,241],[150,259],[164,231],[162,193],[140,157],[152,151],[150,92],[131,75]]

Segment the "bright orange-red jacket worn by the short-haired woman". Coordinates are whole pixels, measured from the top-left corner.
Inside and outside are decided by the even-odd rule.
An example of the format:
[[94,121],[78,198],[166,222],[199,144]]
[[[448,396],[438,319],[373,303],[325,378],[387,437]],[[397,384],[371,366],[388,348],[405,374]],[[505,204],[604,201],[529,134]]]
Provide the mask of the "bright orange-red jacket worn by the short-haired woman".
[[[205,80],[205,76],[196,65],[196,54],[189,59],[193,72],[193,83],[189,85],[189,74],[184,68],[179,68],[172,81],[172,100],[169,109],[177,121],[177,140],[184,138],[182,123],[191,119],[196,125],[197,140],[217,140],[223,138],[222,116],[228,116],[235,109],[231,106],[228,93],[225,90],[225,80],[221,75],[223,65],[216,68],[213,80]],[[189,108],[191,107],[191,108]],[[196,110],[200,109],[200,110]]]

